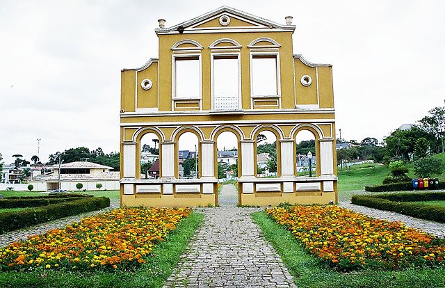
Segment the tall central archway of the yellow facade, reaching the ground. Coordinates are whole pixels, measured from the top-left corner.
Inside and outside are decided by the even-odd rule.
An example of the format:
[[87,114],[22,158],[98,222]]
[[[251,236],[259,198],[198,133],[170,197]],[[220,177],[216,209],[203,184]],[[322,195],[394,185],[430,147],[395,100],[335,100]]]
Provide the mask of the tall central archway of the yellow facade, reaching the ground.
[[232,131],[223,131],[216,138],[218,202],[220,205],[238,203],[239,140]]

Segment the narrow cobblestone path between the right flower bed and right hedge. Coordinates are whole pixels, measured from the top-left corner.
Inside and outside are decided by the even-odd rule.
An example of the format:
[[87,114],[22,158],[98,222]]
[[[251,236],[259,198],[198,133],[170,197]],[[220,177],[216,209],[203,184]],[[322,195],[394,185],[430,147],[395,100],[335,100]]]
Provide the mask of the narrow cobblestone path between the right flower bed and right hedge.
[[385,219],[388,221],[401,221],[405,223],[405,225],[407,225],[408,227],[418,228],[428,233],[434,234],[437,237],[445,238],[445,223],[428,221],[399,214],[396,212],[383,211],[379,209],[365,207],[362,205],[355,205],[352,204],[351,202],[340,202],[340,206],[378,219]]

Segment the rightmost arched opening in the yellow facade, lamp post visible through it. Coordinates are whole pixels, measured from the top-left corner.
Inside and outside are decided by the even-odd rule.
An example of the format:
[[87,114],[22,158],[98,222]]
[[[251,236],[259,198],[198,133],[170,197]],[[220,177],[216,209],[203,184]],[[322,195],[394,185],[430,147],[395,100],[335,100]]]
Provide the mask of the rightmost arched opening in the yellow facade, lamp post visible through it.
[[296,157],[297,176],[318,175],[318,147],[312,131],[301,130],[296,135]]

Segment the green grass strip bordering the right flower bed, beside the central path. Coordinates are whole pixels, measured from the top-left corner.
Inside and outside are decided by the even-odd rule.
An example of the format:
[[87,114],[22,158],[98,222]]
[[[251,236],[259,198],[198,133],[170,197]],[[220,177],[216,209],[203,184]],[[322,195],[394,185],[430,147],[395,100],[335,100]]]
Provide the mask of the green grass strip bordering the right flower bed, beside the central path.
[[266,212],[255,212],[252,218],[277,250],[298,287],[445,287],[444,268],[350,273],[326,269],[316,257],[302,249],[291,232],[268,218]]

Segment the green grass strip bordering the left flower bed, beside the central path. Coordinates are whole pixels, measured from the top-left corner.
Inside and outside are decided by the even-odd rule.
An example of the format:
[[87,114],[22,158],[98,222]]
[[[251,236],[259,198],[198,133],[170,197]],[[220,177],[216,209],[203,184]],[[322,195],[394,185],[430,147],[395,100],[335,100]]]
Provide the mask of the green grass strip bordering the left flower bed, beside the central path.
[[204,215],[192,212],[165,241],[154,248],[154,256],[135,272],[33,271],[0,273],[0,287],[162,287],[171,275]]

